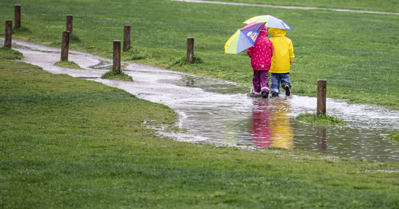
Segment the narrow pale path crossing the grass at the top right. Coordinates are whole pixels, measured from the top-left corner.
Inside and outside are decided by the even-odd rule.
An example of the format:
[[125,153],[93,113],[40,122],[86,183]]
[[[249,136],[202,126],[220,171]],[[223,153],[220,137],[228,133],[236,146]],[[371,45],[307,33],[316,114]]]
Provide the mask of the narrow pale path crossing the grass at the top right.
[[207,3],[207,4],[225,4],[225,5],[235,5],[235,6],[258,6],[258,7],[271,7],[271,8],[293,9],[293,10],[330,10],[330,11],[336,11],[336,12],[356,12],[356,13],[368,13],[368,14],[399,15],[398,12],[379,12],[379,11],[350,10],[350,9],[308,7],[308,6],[281,6],[281,5],[270,5],[270,4],[247,4],[247,3],[217,2],[217,1],[206,1],[206,0],[171,0],[171,1],[191,2],[191,3]]

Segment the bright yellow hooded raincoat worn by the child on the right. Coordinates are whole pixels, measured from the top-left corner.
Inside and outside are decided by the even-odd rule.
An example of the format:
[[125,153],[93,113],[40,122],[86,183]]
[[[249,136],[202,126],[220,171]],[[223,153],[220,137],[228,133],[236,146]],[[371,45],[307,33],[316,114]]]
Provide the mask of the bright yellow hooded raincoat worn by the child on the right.
[[284,36],[287,31],[279,28],[270,28],[269,33],[274,36],[270,38],[270,41],[273,43],[274,51],[269,72],[290,72],[290,62],[294,60],[295,55],[291,39]]

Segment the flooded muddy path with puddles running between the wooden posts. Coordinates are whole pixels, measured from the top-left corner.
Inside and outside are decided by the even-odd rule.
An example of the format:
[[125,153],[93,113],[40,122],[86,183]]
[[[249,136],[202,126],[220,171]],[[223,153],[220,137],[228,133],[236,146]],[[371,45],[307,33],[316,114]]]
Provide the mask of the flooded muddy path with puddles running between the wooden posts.
[[13,42],[13,48],[24,54],[22,61],[48,72],[101,82],[138,98],[168,105],[178,113],[179,126],[188,132],[163,134],[179,141],[273,146],[399,162],[399,143],[384,138],[399,129],[398,111],[327,99],[327,113],[346,121],[348,126],[317,127],[294,120],[300,113],[314,113],[316,98],[249,98],[249,88],[233,82],[136,63],[122,62],[124,72],[134,82],[107,80],[100,77],[112,68],[109,59],[70,51],[69,60],[83,68],[76,70],[53,65],[60,59],[59,49],[21,41]]

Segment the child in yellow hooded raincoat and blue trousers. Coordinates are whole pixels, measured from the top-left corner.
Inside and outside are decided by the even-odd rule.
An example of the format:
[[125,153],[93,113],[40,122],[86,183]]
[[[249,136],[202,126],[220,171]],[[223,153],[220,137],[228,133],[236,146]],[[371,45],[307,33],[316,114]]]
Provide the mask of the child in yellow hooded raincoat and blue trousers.
[[294,61],[294,47],[292,47],[291,39],[285,37],[286,30],[279,28],[270,28],[269,33],[273,35],[270,41],[273,44],[274,51],[272,57],[272,64],[269,72],[271,72],[271,94],[272,96],[279,96],[280,83],[285,90],[285,95],[291,95],[290,83],[290,65]]

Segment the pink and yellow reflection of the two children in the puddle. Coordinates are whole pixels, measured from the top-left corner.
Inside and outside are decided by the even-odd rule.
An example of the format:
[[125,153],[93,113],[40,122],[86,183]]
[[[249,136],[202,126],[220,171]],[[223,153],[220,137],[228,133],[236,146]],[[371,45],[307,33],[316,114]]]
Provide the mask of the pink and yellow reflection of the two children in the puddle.
[[251,129],[253,144],[293,149],[289,104],[285,100],[254,100],[254,107]]

